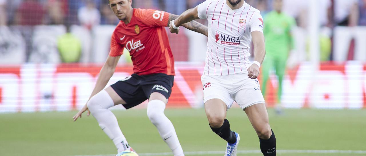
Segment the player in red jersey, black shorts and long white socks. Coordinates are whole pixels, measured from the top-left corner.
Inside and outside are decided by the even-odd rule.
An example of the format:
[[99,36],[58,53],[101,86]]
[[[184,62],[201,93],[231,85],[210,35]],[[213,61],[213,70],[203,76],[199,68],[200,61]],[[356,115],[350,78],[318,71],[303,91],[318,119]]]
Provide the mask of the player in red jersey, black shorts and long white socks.
[[[87,116],[91,113],[96,118],[118,152],[132,150],[116,117],[108,108],[122,104],[129,109],[148,99],[147,116],[150,121],[156,126],[173,155],[183,156],[173,124],[164,114],[175,75],[172,50],[164,27],[168,27],[170,21],[178,15],[153,9],[135,9],[131,7],[131,3],[132,0],[109,0],[112,11],[121,21],[113,32],[111,51],[99,73],[90,99],[75,114],[74,121],[88,110]],[[198,22],[193,21],[183,26],[208,35],[208,28]],[[124,48],[130,52],[134,74],[104,89]]]

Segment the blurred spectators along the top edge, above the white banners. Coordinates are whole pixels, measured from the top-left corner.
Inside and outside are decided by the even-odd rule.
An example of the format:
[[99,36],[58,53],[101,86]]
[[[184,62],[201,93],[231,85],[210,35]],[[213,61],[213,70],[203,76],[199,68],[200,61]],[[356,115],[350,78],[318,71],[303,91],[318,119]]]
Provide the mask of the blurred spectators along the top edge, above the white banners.
[[[204,0],[133,0],[135,8],[160,9],[180,14]],[[117,24],[108,0],[0,0],[1,25]],[[263,16],[272,10],[272,0],[246,0],[259,9]],[[306,26],[308,2],[283,0],[283,11]],[[319,0],[318,9],[323,26],[366,26],[366,0]],[[76,16],[77,15],[77,16]],[[332,18],[333,17],[333,18]]]

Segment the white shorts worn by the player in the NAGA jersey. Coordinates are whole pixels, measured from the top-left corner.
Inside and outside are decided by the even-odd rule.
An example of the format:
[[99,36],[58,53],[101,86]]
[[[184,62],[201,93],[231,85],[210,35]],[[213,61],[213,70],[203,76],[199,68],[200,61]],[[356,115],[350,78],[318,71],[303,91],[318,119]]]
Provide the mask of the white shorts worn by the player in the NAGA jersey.
[[220,99],[228,109],[233,102],[245,109],[251,105],[264,103],[264,98],[258,79],[248,78],[248,74],[238,73],[231,75],[202,75],[203,102],[211,99]]

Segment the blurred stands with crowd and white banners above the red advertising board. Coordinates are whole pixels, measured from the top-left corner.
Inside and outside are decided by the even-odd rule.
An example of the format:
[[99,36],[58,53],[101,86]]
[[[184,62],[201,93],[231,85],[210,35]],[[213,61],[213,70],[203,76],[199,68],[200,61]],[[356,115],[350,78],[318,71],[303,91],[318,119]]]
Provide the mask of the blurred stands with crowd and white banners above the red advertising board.
[[[179,15],[203,1],[132,0],[132,5]],[[119,22],[107,2],[0,0],[0,64],[104,62],[110,35]],[[246,0],[246,3],[259,9],[264,18],[272,10],[272,0]],[[365,45],[361,44],[366,42],[363,39],[366,28],[362,27],[366,26],[366,0],[318,0],[317,3],[321,60],[366,61],[366,56],[358,54],[366,53]],[[283,12],[296,19],[297,61],[309,59],[309,7],[308,1],[283,0]],[[334,38],[337,35],[339,39]],[[183,31],[178,35],[169,34],[169,38],[176,61],[204,61],[205,36]]]

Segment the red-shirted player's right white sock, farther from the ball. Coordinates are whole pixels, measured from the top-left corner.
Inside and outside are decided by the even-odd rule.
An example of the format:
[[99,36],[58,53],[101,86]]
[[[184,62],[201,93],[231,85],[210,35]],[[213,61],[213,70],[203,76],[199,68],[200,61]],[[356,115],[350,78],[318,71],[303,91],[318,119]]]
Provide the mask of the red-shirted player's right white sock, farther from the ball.
[[184,156],[172,122],[164,114],[165,103],[161,100],[151,100],[147,104],[147,116],[156,126],[161,138],[168,144],[174,156]]

